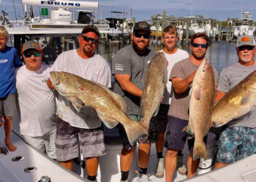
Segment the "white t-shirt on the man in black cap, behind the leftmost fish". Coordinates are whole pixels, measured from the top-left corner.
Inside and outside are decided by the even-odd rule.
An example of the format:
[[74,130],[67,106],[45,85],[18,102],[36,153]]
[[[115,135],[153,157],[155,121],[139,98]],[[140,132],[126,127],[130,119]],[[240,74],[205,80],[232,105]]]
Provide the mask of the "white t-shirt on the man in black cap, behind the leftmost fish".
[[[95,54],[89,59],[80,58],[77,50],[62,52],[53,64],[53,71],[66,71],[84,79],[111,87],[111,71],[108,62]],[[73,127],[94,129],[102,125],[97,111],[91,107],[83,107],[79,112],[72,103],[60,94],[57,100],[57,114]]]

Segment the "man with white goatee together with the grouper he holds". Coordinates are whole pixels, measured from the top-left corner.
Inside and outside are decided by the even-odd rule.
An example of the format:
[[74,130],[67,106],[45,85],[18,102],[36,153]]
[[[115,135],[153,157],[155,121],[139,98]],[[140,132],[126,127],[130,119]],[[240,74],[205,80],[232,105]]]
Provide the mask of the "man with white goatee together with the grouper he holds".
[[[214,127],[228,123],[219,136],[215,169],[256,153],[256,110],[255,104],[249,106],[256,92],[255,46],[253,36],[238,37],[238,62],[224,68],[219,76],[215,96],[215,102],[219,102],[214,106],[212,122]],[[237,84],[240,87],[236,87]],[[226,119],[235,114],[238,118],[235,116],[230,122]]]

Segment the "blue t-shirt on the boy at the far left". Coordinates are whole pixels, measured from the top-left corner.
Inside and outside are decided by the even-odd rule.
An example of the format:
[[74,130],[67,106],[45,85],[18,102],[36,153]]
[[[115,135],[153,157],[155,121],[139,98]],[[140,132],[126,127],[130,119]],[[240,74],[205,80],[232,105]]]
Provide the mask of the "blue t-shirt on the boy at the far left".
[[15,68],[22,66],[18,52],[13,47],[0,51],[0,98],[16,92]]

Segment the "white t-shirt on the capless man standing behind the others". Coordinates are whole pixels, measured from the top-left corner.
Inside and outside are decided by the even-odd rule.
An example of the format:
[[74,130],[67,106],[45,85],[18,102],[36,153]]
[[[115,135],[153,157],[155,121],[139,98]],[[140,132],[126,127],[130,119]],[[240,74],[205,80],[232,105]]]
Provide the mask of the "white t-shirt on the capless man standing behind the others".
[[[159,52],[164,52],[164,51],[160,50]],[[170,71],[172,70],[173,65],[180,60],[189,58],[189,53],[185,50],[181,50],[181,49],[177,48],[177,51],[174,54],[165,53],[165,57],[168,61],[167,76],[170,76]],[[171,90],[171,88],[172,88],[172,82],[170,82],[170,80],[168,80],[166,87],[165,87],[164,98],[162,99],[163,104],[170,104],[170,100],[171,100],[170,96],[173,93],[173,90]]]

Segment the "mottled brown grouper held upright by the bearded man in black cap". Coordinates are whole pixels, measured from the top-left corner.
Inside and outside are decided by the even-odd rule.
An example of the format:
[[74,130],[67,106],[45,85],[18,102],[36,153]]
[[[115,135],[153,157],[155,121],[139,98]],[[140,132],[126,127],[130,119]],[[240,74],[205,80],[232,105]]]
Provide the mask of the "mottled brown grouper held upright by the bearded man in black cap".
[[151,117],[157,113],[167,83],[167,60],[164,52],[157,52],[146,74],[141,107],[143,119],[140,124],[148,131]]

